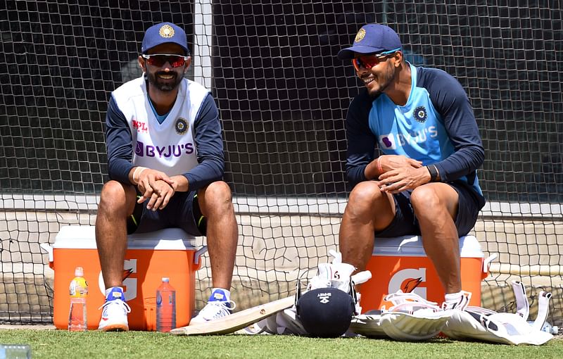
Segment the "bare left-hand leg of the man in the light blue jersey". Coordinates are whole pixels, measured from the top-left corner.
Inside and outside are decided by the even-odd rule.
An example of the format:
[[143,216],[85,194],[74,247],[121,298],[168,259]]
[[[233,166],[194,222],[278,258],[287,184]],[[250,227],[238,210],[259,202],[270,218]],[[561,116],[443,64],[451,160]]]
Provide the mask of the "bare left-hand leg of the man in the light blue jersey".
[[342,261],[365,270],[374,249],[374,232],[386,228],[395,216],[391,194],[381,192],[376,182],[357,184],[348,199],[340,225]]

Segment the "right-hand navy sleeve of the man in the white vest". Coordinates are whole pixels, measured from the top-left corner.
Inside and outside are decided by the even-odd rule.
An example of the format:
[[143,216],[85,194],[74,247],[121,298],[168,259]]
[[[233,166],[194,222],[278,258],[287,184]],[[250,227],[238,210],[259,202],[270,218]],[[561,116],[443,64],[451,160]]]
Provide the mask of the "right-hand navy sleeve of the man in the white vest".
[[198,115],[196,115],[194,139],[199,164],[184,173],[189,182],[189,191],[196,191],[223,177],[224,153],[221,124],[219,111],[211,94],[205,97]]

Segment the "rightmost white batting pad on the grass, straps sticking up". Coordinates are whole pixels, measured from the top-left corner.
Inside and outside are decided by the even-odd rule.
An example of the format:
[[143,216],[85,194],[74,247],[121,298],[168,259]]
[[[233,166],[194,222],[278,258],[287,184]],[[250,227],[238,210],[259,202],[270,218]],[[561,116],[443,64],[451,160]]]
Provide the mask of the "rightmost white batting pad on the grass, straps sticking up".
[[482,340],[500,344],[541,345],[552,339],[552,334],[541,328],[548,317],[551,294],[541,291],[538,296],[538,316],[530,324],[526,321],[529,302],[524,284],[512,282],[517,301],[517,313],[497,313],[481,307],[455,310],[442,332],[453,339]]

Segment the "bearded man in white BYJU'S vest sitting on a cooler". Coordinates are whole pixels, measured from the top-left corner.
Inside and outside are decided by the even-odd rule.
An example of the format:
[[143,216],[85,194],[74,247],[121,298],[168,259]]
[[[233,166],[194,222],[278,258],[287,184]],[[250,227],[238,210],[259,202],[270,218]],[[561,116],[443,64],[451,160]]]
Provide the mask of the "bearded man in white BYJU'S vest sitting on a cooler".
[[[179,227],[207,237],[213,289],[193,322],[229,315],[238,228],[222,182],[223,142],[213,96],[186,80],[186,33],[172,23],[146,30],[143,75],[115,89],[106,115],[110,180],[103,185],[96,244],[106,303],[99,329],[128,330],[122,290],[127,234]],[[170,263],[173,265],[173,263]]]

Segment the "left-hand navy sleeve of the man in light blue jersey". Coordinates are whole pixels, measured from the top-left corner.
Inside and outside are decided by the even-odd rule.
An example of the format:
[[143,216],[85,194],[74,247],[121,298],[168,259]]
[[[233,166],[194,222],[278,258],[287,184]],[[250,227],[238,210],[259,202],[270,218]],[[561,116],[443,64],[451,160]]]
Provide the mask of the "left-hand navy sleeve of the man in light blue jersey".
[[365,181],[365,168],[374,159],[376,138],[369,129],[369,109],[374,99],[366,90],[356,96],[346,114],[346,178],[350,186]]

